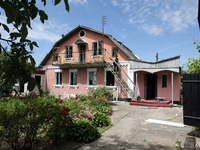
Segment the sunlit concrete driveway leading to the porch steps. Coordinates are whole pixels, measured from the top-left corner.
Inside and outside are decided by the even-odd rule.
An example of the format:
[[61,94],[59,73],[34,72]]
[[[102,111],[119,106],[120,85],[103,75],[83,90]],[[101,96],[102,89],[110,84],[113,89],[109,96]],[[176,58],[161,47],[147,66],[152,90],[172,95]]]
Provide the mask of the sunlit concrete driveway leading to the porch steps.
[[111,116],[113,126],[102,133],[101,138],[85,144],[79,150],[175,150],[176,141],[182,142],[189,135],[197,136],[200,145],[200,132],[194,128],[175,127],[145,120],[158,119],[183,123],[182,108],[150,108],[143,109],[130,106],[129,103],[112,105]]

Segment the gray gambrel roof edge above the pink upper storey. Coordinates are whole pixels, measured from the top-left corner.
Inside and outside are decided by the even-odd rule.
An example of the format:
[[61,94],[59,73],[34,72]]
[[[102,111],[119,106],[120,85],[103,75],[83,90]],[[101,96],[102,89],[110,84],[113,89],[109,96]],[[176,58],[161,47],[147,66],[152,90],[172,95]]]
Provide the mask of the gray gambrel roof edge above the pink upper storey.
[[117,41],[115,38],[113,38],[111,35],[109,34],[106,34],[106,33],[103,33],[101,31],[98,31],[98,30],[94,30],[92,28],[89,28],[89,27],[86,27],[86,26],[82,26],[82,25],[79,25],[77,26],[76,28],[74,28],[73,30],[71,30],[70,32],[68,32],[66,35],[64,35],[61,39],[59,39],[52,47],[52,49],[50,50],[50,52],[45,56],[45,58],[42,60],[42,62],[40,63],[39,67],[40,66],[43,66],[45,61],[51,57],[52,53],[53,53],[53,50],[55,47],[58,47],[60,43],[62,43],[63,41],[65,41],[70,35],[72,35],[76,30],[79,30],[79,29],[86,29],[86,30],[90,30],[90,31],[93,31],[93,32],[96,32],[96,33],[99,33],[99,34],[104,34],[104,36],[107,36],[108,38],[111,39],[111,41],[113,41],[113,43],[115,43],[128,57],[129,59],[132,59],[132,60],[141,60],[135,53],[133,53],[128,47],[126,47],[125,45],[122,44],[122,42],[120,41]]

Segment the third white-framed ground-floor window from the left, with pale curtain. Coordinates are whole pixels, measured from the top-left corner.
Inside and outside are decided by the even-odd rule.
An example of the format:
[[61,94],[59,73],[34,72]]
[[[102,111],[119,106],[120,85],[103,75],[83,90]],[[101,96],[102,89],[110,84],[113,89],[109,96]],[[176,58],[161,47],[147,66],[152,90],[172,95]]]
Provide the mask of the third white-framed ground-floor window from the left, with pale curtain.
[[87,70],[87,83],[90,86],[96,86],[96,72],[97,69],[88,69]]

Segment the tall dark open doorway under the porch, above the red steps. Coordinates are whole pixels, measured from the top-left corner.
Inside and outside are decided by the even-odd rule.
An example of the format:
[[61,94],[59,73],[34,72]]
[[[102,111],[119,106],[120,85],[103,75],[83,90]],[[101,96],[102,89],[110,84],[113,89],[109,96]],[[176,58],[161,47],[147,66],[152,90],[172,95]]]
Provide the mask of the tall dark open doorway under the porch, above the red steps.
[[145,74],[145,99],[157,97],[157,74]]

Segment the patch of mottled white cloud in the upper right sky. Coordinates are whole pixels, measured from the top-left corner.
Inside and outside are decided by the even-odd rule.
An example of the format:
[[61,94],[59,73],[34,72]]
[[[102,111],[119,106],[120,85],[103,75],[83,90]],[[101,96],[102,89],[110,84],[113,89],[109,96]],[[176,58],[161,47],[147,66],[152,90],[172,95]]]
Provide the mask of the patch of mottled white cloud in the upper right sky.
[[129,23],[148,34],[184,32],[197,23],[198,1],[188,0],[112,0],[123,13],[129,15]]

